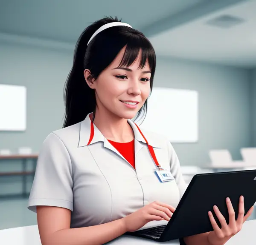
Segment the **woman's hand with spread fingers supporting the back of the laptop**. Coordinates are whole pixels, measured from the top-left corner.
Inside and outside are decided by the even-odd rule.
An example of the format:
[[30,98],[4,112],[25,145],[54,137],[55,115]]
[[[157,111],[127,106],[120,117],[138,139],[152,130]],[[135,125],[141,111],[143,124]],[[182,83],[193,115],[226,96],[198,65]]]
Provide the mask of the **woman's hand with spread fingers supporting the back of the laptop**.
[[219,228],[216,223],[212,212],[209,211],[208,215],[210,218],[210,222],[212,224],[212,228],[214,229],[208,235],[208,241],[211,245],[223,245],[225,244],[232,236],[241,231],[242,225],[248,219],[248,217],[253,212],[253,206],[249,209],[247,214],[244,216],[244,197],[241,196],[239,198],[239,214],[237,220],[235,218],[235,211],[233,209],[232,203],[229,198],[226,199],[228,214],[229,214],[229,224],[227,225],[226,219],[219,211],[218,207],[215,205],[213,210],[215,211],[216,216],[218,217],[221,228]]

